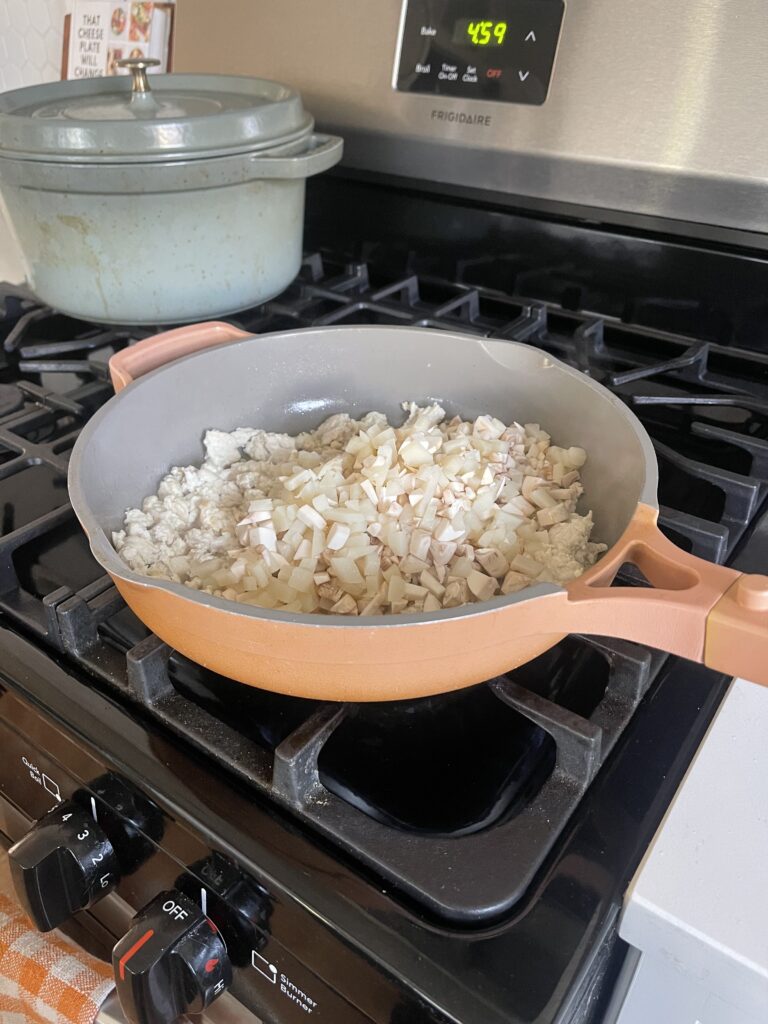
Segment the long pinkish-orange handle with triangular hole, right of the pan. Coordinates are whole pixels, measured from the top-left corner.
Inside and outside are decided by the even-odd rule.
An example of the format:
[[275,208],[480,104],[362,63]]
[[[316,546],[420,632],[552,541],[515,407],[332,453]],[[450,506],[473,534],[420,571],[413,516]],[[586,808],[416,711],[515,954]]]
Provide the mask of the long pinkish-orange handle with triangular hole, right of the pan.
[[[768,686],[768,575],[750,575],[682,551],[638,505],[618,542],[566,587],[569,632],[621,637]],[[611,587],[622,565],[651,584]],[[552,622],[549,624],[549,629]]]

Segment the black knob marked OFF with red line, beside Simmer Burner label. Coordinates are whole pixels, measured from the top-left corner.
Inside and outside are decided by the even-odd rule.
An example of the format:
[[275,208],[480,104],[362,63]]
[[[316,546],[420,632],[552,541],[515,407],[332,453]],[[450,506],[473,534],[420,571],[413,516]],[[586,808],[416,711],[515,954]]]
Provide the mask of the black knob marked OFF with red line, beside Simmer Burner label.
[[118,995],[132,1024],[170,1024],[199,1014],[231,982],[216,926],[188,896],[161,893],[112,951]]

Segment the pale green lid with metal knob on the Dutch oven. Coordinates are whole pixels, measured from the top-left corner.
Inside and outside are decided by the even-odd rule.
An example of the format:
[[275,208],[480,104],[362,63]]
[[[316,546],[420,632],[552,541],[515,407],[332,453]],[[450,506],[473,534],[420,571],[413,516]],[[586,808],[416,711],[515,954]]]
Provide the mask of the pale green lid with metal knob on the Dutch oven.
[[53,82],[0,94],[0,156],[125,163],[263,150],[310,131],[301,96],[266,79],[153,75]]

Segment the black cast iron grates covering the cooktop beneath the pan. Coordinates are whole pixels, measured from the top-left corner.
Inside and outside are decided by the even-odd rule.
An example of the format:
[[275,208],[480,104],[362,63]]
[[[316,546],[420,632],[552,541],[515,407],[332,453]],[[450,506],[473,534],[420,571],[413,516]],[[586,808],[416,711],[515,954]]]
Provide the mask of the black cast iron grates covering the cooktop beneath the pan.
[[[705,558],[730,556],[768,489],[768,356],[446,280],[380,279],[366,263],[313,253],[287,292],[231,319],[254,333],[418,325],[546,349],[643,420],[659,458],[665,531]],[[663,655],[570,637],[470,691],[376,706],[297,700],[212,676],[126,608],[67,500],[69,453],[111,394],[109,355],[154,332],[87,325],[4,295],[0,609],[429,911],[479,923],[508,910]],[[63,374],[72,386],[61,387]]]

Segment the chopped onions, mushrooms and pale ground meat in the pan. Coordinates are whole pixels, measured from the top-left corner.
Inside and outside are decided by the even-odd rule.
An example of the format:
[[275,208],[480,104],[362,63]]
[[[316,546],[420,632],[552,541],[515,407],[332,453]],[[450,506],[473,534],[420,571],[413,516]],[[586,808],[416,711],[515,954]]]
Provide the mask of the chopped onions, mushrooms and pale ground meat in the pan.
[[577,512],[584,449],[437,404],[315,430],[209,430],[113,535],[137,572],[298,612],[438,611],[567,583],[606,550]]

